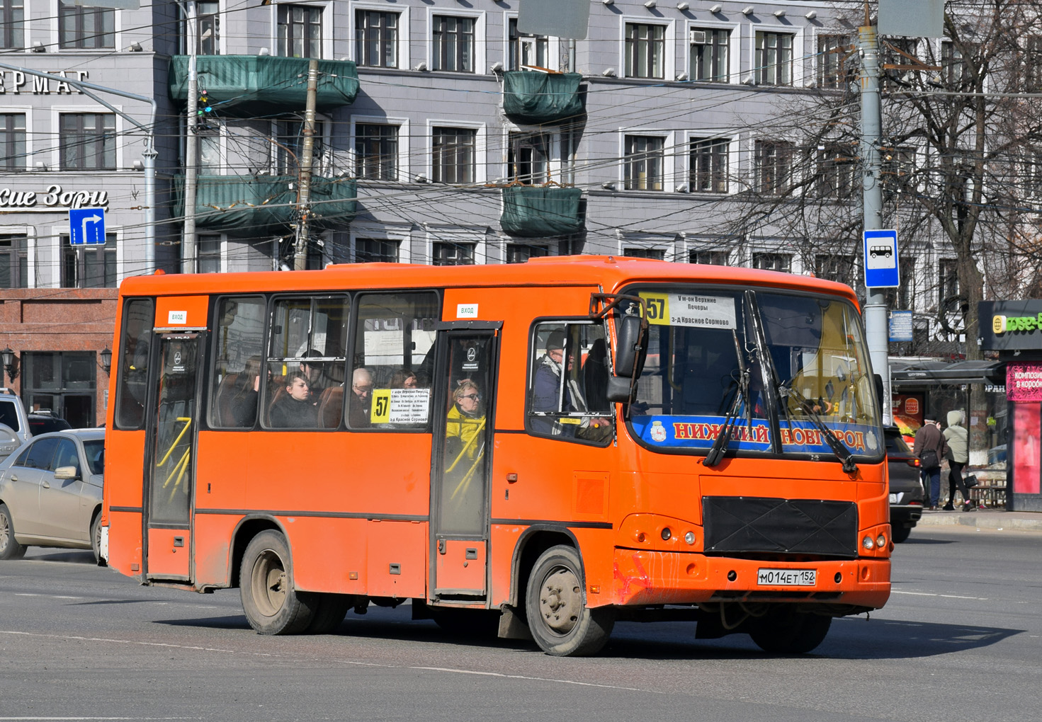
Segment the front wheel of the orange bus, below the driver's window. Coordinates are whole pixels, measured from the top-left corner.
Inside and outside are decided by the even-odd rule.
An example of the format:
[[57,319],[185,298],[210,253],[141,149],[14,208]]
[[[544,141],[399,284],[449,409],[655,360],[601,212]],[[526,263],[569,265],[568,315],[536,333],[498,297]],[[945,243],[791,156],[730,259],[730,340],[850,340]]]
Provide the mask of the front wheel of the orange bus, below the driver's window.
[[528,577],[525,615],[532,639],[547,654],[596,654],[612,634],[615,611],[586,605],[582,561],[572,547],[543,552]]

